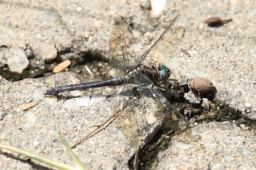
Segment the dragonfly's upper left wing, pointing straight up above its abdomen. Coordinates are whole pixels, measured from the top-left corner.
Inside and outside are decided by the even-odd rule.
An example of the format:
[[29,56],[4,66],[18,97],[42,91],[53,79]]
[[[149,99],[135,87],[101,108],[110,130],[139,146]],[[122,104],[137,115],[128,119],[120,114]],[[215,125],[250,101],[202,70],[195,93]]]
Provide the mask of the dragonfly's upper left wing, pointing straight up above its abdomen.
[[124,18],[118,15],[113,24],[112,35],[110,39],[110,57],[106,77],[117,77],[130,68],[126,40]]

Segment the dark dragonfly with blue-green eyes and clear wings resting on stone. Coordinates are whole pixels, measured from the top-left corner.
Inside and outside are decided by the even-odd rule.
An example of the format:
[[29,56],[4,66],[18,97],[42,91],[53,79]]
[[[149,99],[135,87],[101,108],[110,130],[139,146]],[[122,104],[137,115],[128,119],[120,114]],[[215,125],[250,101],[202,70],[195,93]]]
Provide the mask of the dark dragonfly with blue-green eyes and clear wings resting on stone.
[[[118,15],[113,24],[112,36],[110,39],[110,57],[112,58],[108,64],[106,77],[114,77],[109,80],[97,82],[89,82],[82,84],[74,84],[63,87],[55,87],[46,91],[47,95],[58,95],[60,92],[72,90],[84,90],[89,88],[97,88],[103,86],[119,86],[114,93],[108,98],[112,101],[110,106],[117,115],[118,128],[123,132],[133,147],[138,147],[141,142],[141,126],[138,125],[138,101],[134,97],[134,89],[137,89],[142,101],[146,101],[148,107],[157,107],[152,113],[153,117],[158,121],[165,123],[172,130],[182,133],[189,128],[188,122],[183,115],[166,99],[159,89],[162,82],[167,81],[171,75],[171,70],[165,65],[147,66],[142,64],[144,58],[151,49],[163,37],[171,32],[171,28],[177,18],[174,18],[166,30],[155,41],[155,43],[141,54],[130,65],[128,60],[126,36],[125,36],[125,20]],[[150,100],[151,99],[151,100]],[[151,101],[151,102],[149,102]]]

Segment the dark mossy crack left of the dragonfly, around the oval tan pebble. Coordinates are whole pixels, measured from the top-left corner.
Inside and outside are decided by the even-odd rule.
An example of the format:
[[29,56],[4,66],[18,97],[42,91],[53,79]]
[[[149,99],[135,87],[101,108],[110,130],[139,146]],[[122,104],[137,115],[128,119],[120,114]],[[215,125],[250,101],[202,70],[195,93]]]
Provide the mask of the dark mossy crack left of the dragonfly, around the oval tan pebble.
[[[78,44],[81,44],[81,43],[78,42]],[[7,47],[1,47],[1,48],[7,48]],[[84,75],[84,74],[89,75],[87,71],[84,71],[85,70],[84,65],[89,65],[91,66],[91,68],[93,68],[92,66],[93,64],[102,62],[104,63],[103,69],[105,71],[105,63],[109,62],[109,59],[103,57],[101,53],[97,50],[86,49],[86,51],[81,52],[73,48],[58,52],[57,57],[51,63],[45,62],[44,65],[35,64],[35,61],[37,59],[34,57],[33,51],[30,51],[28,55],[28,59],[31,64],[22,73],[11,72],[9,70],[8,65],[2,64],[0,65],[0,75],[2,75],[4,79],[10,82],[19,81],[26,78],[40,78],[40,77],[51,75],[53,73],[54,67],[65,60],[71,61],[71,65],[68,67],[68,71],[73,71],[73,72],[79,73],[80,75]],[[99,67],[99,70],[100,69],[101,67]],[[95,76],[97,77],[97,75]],[[100,74],[98,78],[101,79],[104,77],[102,77],[102,74]]]

